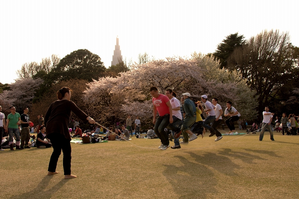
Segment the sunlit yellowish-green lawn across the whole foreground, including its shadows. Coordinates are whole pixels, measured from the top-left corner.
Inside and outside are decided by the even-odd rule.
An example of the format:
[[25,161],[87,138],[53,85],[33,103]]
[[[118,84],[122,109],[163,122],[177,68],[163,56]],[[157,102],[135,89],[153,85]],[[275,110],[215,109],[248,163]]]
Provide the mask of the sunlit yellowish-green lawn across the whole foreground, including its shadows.
[[133,144],[152,149],[126,141],[71,143],[77,178],[68,180],[62,155],[60,173],[46,176],[52,148],[5,149],[0,198],[299,198],[299,136],[275,132],[271,141],[265,132],[259,142],[257,132],[215,142],[208,134],[165,151],[157,149],[159,139],[135,136]]

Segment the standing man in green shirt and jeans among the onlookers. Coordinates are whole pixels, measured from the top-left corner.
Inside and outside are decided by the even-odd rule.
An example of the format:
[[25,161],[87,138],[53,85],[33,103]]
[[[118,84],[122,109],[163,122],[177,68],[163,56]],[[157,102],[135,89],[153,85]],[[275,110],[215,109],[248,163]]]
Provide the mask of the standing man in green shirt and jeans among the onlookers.
[[22,149],[20,148],[20,132],[18,124],[21,122],[21,116],[19,113],[16,113],[15,107],[9,107],[10,114],[7,116],[7,125],[6,130],[8,130],[9,134],[9,146],[10,150],[13,151],[13,133],[16,136],[16,149]]

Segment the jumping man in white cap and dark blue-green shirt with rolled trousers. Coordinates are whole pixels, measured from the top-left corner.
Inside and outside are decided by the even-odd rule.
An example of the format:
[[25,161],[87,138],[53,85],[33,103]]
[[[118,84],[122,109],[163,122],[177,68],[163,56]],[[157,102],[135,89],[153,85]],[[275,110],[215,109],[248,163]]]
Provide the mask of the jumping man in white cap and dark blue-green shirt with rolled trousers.
[[190,93],[183,93],[184,96],[184,111],[185,118],[181,130],[190,135],[189,141],[192,141],[197,138],[197,136],[192,133],[190,128],[196,121],[196,107],[193,101],[190,99]]

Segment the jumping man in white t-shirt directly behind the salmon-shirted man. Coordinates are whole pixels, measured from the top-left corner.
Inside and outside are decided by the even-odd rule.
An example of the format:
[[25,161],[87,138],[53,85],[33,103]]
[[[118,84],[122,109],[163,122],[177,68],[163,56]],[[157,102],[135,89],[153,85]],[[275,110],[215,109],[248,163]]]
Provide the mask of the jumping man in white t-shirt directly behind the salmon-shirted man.
[[179,136],[181,134],[181,126],[183,124],[183,117],[181,114],[181,104],[180,101],[176,98],[176,93],[172,89],[166,89],[165,95],[168,97],[171,107],[172,107],[172,119],[173,123],[168,124],[166,128],[171,130],[174,146],[170,147],[172,149],[181,148],[179,142]]

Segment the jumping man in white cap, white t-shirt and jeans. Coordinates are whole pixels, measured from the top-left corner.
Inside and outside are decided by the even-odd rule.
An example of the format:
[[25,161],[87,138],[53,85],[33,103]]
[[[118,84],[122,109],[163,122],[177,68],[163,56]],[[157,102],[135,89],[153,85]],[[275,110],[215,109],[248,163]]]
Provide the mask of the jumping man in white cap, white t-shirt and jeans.
[[205,103],[205,112],[209,115],[204,122],[204,127],[210,130],[210,135],[209,137],[215,135],[216,131],[213,129],[213,127],[210,127],[208,124],[213,122],[216,119],[216,113],[215,113],[215,106],[208,101],[208,96],[207,95],[202,95],[202,102]]

